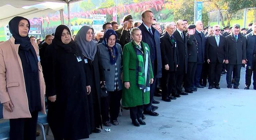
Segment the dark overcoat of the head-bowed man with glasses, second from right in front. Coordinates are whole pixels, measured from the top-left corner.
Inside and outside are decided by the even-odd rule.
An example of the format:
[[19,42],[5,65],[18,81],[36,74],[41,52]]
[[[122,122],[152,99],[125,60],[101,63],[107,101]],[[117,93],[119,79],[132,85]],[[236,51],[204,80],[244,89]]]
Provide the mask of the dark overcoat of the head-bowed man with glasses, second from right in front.
[[246,39],[240,33],[238,34],[237,41],[232,34],[226,36],[226,59],[229,64],[238,65],[242,64],[242,60],[246,59]]

